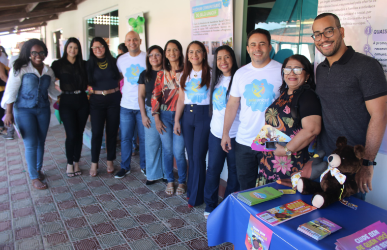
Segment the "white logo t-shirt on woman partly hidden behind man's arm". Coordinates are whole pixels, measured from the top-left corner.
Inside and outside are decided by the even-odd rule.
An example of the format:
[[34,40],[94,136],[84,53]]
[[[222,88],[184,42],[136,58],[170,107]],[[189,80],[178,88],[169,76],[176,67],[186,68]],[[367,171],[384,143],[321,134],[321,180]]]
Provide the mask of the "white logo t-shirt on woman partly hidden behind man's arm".
[[[213,104],[213,115],[211,119],[211,133],[222,139],[223,136],[223,124],[224,124],[224,113],[226,111],[227,104],[227,89],[230,84],[231,76],[221,76],[219,79],[219,83],[215,86],[212,104]],[[235,138],[236,132],[238,131],[239,123],[239,112],[241,111],[241,107],[238,108],[238,112],[236,113],[235,120],[232,123],[230,132],[228,135],[230,138]]]

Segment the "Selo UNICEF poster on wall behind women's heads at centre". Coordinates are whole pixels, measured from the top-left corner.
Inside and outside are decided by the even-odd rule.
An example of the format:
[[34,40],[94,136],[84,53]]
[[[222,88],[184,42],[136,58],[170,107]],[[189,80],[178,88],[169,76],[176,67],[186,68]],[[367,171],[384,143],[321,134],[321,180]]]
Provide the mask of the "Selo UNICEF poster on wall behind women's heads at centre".
[[211,67],[218,47],[234,48],[232,1],[192,0],[191,38],[204,44]]

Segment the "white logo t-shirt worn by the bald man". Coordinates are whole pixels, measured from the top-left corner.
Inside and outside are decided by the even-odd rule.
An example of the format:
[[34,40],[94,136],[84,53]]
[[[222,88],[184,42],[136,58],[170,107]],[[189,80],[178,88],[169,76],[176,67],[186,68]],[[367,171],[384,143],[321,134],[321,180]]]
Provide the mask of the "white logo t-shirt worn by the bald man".
[[146,53],[141,51],[137,56],[131,56],[129,52],[118,57],[118,71],[124,76],[122,88],[121,107],[126,109],[140,109],[138,105],[138,78],[146,69]]

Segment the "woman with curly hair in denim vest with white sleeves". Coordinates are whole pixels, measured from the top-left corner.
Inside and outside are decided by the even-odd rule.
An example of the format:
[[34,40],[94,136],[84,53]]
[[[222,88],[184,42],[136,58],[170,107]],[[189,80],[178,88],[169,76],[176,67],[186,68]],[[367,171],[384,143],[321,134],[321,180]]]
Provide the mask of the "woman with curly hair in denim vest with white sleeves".
[[23,137],[25,160],[29,178],[36,189],[47,189],[41,181],[44,141],[50,124],[50,101],[60,94],[55,89],[55,75],[50,67],[43,63],[47,56],[46,45],[31,39],[25,42],[19,58],[10,71],[2,107],[7,110],[4,123],[11,126],[14,122]]

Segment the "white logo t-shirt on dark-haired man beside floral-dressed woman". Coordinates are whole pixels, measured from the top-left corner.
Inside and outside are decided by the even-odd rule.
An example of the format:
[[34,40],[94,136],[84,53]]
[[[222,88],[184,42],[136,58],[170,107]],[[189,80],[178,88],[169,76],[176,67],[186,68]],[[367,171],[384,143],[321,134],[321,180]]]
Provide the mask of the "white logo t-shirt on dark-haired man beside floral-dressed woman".
[[230,95],[241,98],[241,121],[236,142],[251,146],[265,124],[265,111],[278,97],[282,65],[271,60],[261,69],[248,64],[235,72]]

